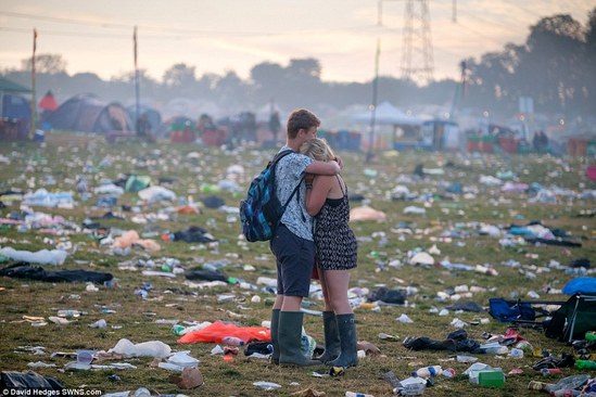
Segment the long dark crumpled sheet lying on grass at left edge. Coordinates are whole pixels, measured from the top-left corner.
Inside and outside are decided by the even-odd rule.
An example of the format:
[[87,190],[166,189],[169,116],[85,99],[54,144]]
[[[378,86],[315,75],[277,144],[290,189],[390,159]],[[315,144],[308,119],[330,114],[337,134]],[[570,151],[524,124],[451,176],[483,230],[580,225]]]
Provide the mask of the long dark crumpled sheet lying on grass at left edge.
[[88,270],[47,271],[41,267],[34,267],[27,262],[18,262],[0,269],[0,277],[2,276],[47,282],[93,282],[98,284],[103,284],[113,279],[111,273]]

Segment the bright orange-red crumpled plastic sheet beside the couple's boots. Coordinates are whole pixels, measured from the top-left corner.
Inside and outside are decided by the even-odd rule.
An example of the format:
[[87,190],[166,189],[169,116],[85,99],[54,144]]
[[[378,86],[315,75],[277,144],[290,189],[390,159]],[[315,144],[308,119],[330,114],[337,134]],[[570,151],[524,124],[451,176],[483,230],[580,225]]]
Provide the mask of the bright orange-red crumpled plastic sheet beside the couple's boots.
[[248,344],[251,341],[266,342],[271,340],[271,332],[265,326],[238,326],[216,321],[202,330],[191,331],[180,337],[178,343],[221,343],[225,336],[234,336]]

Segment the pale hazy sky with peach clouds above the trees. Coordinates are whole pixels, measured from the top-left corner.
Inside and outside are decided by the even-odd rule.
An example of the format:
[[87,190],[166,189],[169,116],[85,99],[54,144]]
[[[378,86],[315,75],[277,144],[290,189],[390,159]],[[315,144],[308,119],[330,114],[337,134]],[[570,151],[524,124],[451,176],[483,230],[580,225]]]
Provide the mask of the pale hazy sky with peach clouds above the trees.
[[[543,16],[571,14],[582,25],[595,0],[431,0],[434,77],[457,78],[464,57],[523,43]],[[161,80],[175,63],[248,78],[262,62],[287,66],[315,57],[326,81],[368,81],[379,72],[400,77],[405,0],[0,0],[0,68],[37,53],[60,53],[69,74],[107,79],[134,71],[132,27],[139,68]]]

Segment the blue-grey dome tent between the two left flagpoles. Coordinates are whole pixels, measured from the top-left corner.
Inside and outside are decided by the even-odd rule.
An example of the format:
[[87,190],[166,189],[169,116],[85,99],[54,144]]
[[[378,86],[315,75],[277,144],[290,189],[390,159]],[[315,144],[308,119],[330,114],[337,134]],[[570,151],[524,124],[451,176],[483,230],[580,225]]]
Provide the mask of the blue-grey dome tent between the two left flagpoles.
[[68,99],[43,123],[53,129],[81,132],[132,131],[128,113],[117,102],[107,103],[100,98],[81,93]]

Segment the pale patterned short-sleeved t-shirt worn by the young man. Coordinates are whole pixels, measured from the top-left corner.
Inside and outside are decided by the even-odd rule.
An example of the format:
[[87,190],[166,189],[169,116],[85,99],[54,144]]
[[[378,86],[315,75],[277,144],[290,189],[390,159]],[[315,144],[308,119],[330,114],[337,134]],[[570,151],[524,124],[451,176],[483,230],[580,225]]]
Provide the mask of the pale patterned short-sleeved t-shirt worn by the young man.
[[[288,146],[281,148],[280,152],[291,150]],[[313,163],[313,158],[300,153],[291,153],[281,158],[276,167],[277,196],[281,205],[286,204],[294,188],[299,184],[304,170]],[[281,222],[299,238],[313,241],[313,218],[306,210],[306,185],[304,181],[290,200]]]

